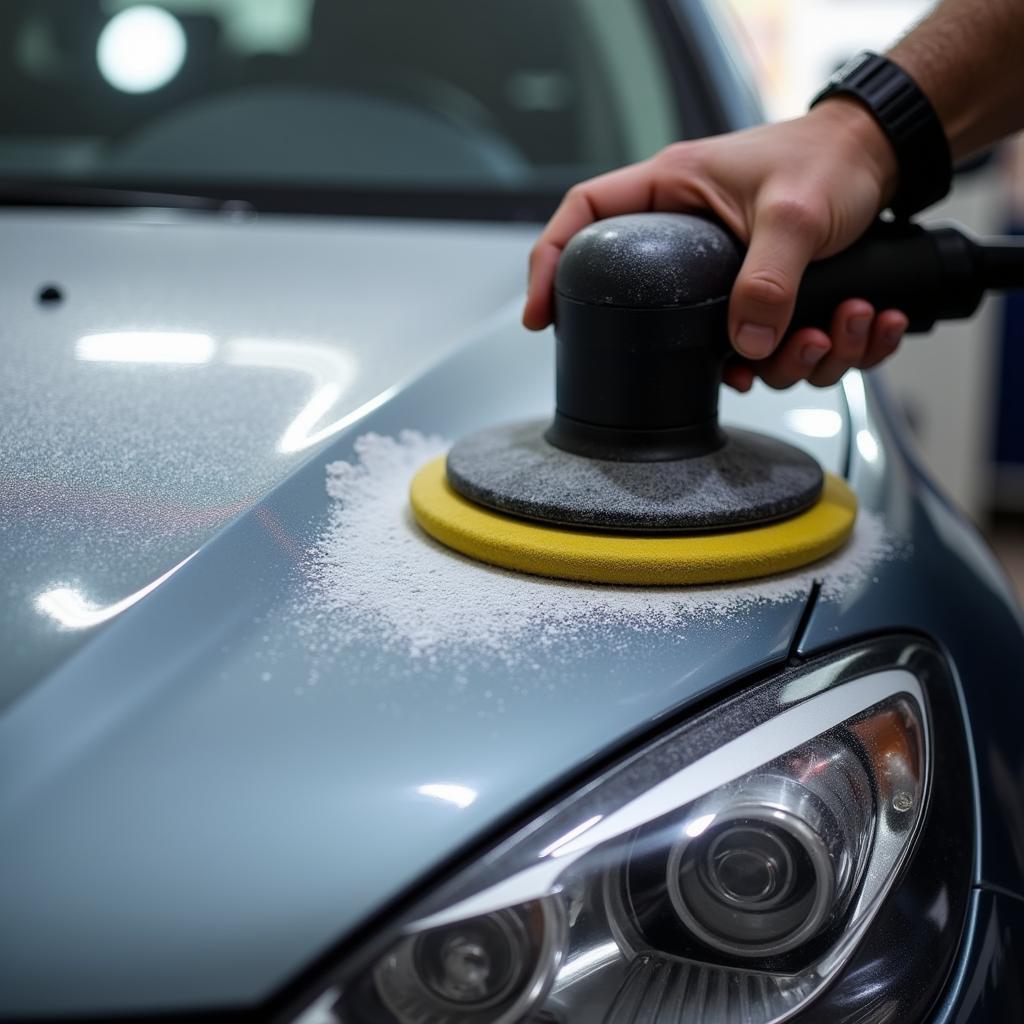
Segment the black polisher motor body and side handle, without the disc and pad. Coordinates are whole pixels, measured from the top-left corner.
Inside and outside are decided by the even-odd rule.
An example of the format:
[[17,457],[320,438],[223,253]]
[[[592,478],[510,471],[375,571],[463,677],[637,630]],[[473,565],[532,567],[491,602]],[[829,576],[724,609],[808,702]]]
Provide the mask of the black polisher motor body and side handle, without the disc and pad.
[[[599,220],[568,242],[555,279],[555,419],[546,436],[575,455],[686,459],[726,442],[718,423],[727,311],[742,246],[721,223],[681,213]],[[880,222],[812,263],[794,328],[828,328],[864,298],[902,309],[911,331],[970,316],[990,288],[1024,288],[1024,247],[955,227]]]

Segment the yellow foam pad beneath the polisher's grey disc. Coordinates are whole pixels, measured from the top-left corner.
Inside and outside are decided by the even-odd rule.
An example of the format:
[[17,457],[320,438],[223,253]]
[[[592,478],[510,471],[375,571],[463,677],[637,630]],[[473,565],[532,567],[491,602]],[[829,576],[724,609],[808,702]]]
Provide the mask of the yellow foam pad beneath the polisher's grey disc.
[[708,534],[616,534],[554,526],[495,512],[447,482],[444,457],[413,478],[413,513],[434,540],[490,565],[534,575],[634,587],[731,583],[785,572],[840,548],[857,499],[825,473],[817,503],[788,519]]

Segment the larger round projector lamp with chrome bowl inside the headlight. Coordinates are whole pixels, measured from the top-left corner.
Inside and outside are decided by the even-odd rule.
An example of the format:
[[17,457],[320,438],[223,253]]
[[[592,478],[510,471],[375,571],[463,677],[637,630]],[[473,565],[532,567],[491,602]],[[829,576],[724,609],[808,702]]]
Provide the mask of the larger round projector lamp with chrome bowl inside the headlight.
[[665,890],[710,948],[759,959],[790,952],[849,903],[866,863],[871,810],[857,752],[835,739],[808,744],[692,811],[670,850]]

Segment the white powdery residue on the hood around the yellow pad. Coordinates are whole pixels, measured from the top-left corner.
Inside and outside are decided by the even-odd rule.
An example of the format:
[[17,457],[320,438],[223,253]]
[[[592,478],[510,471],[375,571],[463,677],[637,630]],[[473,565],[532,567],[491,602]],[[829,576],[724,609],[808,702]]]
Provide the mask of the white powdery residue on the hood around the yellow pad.
[[366,434],[355,460],[327,467],[328,522],[305,565],[304,612],[332,641],[369,641],[411,658],[462,652],[515,662],[521,652],[592,635],[727,622],[752,606],[806,595],[837,600],[868,583],[896,554],[881,517],[861,512],[837,554],[805,569],[742,584],[642,588],[590,586],[484,565],[437,544],[409,508],[416,471],[449,442],[403,431]]

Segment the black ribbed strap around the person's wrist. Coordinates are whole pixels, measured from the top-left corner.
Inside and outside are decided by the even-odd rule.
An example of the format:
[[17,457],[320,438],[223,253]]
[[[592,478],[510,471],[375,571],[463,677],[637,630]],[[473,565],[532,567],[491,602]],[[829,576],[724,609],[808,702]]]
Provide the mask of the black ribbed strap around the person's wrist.
[[877,53],[858,53],[833,75],[811,106],[837,95],[866,106],[896,152],[899,184],[889,205],[897,217],[909,217],[949,191],[952,155],[942,122],[899,65]]

